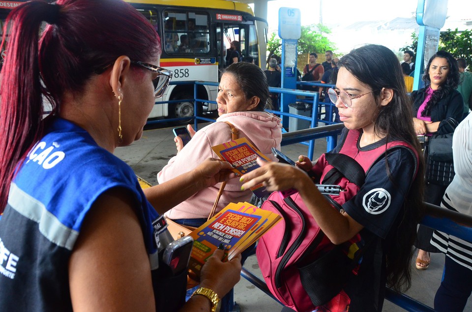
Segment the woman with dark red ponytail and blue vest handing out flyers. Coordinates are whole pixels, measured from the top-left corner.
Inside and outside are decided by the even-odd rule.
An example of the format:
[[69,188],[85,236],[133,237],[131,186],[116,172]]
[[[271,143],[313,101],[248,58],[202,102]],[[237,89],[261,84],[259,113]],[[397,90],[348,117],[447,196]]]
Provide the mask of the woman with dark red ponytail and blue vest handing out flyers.
[[185,303],[185,266],[162,260],[162,214],[233,177],[231,166],[209,159],[155,187],[154,209],[113,155],[142,136],[172,77],[158,67],[154,28],[121,0],[30,1],[7,23],[0,311],[214,311],[239,280],[240,257],[223,263],[216,251]]

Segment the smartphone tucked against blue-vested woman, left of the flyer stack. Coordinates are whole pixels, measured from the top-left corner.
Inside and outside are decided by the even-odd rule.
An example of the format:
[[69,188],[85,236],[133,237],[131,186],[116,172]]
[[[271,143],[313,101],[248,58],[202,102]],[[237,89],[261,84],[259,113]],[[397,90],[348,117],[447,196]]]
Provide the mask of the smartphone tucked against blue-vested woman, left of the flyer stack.
[[192,253],[193,238],[190,236],[181,237],[164,249],[162,261],[169,265],[174,276],[187,269],[190,254]]

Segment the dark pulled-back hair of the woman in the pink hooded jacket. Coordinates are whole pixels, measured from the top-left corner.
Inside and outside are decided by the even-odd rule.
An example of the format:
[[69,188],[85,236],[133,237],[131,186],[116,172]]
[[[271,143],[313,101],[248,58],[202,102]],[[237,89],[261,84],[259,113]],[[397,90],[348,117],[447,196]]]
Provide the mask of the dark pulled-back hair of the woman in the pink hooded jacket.
[[[259,105],[253,111],[263,112],[265,109],[272,108],[266,74],[259,66],[248,62],[238,62],[226,67],[221,74],[224,73],[235,77],[246,99],[253,96],[259,98]],[[256,81],[257,84],[254,83]]]

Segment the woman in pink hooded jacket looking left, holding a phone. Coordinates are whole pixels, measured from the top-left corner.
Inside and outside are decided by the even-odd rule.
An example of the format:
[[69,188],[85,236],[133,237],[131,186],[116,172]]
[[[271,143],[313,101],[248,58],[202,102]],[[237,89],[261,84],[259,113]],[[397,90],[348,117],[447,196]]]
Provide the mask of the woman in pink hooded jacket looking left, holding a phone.
[[[184,172],[197,167],[208,157],[218,158],[211,146],[231,141],[229,121],[239,130],[239,138],[247,138],[272,160],[271,148],[280,149],[282,125],[280,118],[264,110],[270,105],[267,80],[258,66],[239,62],[226,68],[218,86],[218,115],[215,123],[195,133],[189,125],[192,140],[183,148],[181,140],[176,138],[177,155],[157,174],[159,183],[166,182]],[[198,227],[207,221],[216,199],[220,185],[203,189],[189,199],[181,202],[166,213],[166,217],[179,224]],[[247,201],[251,198],[250,190],[241,191],[237,179],[228,181],[218,202],[216,211],[220,211],[230,202]]]

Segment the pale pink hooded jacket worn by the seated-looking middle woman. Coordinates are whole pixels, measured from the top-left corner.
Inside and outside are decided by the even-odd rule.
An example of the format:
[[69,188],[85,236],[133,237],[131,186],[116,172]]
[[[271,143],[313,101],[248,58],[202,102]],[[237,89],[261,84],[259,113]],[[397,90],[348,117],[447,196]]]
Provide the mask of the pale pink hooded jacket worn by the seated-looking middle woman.
[[[197,131],[192,140],[157,173],[157,181],[159,183],[169,181],[177,175],[194,169],[208,157],[218,158],[211,146],[231,141],[230,127],[220,121],[231,122],[239,130],[239,138],[248,138],[267,157],[277,161],[272,155],[271,148],[280,149],[282,141],[280,118],[266,112],[226,113],[216,119],[215,123]],[[165,216],[170,219],[207,218],[219,188],[220,183],[201,190],[166,212]],[[216,212],[230,202],[247,201],[251,195],[250,190],[241,191],[241,183],[238,179],[232,179],[226,184]]]

